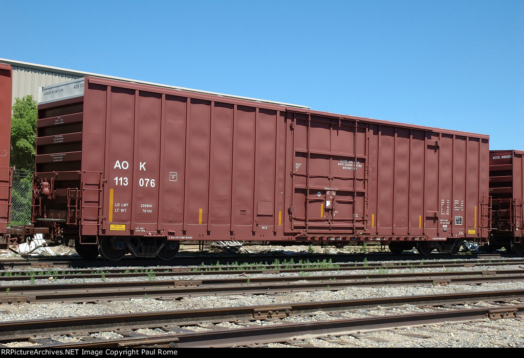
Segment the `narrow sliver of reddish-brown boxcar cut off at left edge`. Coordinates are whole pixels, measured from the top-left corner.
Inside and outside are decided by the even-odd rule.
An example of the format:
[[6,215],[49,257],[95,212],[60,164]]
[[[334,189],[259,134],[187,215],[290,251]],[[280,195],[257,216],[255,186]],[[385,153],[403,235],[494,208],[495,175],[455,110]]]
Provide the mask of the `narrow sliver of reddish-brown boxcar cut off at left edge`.
[[13,90],[13,70],[11,66],[0,63],[0,245],[5,244],[11,205],[11,185],[13,171],[9,167],[11,143],[11,97]]

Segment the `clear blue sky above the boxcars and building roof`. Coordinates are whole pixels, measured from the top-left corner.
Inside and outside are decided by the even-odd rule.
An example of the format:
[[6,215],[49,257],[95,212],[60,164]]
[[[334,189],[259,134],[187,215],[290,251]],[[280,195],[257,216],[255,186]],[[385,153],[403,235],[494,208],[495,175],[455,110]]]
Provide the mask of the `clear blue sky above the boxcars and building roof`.
[[524,149],[524,1],[6,1],[0,57]]

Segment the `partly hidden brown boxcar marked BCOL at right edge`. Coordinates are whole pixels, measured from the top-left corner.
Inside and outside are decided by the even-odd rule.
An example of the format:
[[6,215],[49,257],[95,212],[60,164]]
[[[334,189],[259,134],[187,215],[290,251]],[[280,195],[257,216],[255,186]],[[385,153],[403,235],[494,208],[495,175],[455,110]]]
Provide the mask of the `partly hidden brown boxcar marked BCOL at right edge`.
[[524,152],[489,151],[489,194],[492,197],[492,235],[487,250],[502,246],[524,252]]

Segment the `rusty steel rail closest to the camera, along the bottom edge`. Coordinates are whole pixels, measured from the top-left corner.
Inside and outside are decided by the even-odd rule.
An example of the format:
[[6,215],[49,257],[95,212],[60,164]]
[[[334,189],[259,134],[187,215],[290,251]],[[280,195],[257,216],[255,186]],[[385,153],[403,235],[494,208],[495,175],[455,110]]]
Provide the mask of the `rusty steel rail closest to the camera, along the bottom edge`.
[[[177,332],[146,336],[136,332],[121,332],[124,338],[113,340],[87,340],[61,343],[52,340],[33,340],[42,342],[38,348],[220,348],[220,347],[260,347],[266,343],[289,343],[291,339],[321,337],[325,335],[342,336],[352,333],[377,331],[392,328],[413,327],[441,322],[481,321],[487,318],[517,318],[524,312],[524,305],[499,308],[468,308],[440,310],[436,312],[398,314],[387,316],[346,318],[300,323],[285,322],[278,325],[247,326],[232,329],[211,329],[203,332]],[[51,341],[51,342],[49,342]],[[47,343],[47,344],[46,344]]]

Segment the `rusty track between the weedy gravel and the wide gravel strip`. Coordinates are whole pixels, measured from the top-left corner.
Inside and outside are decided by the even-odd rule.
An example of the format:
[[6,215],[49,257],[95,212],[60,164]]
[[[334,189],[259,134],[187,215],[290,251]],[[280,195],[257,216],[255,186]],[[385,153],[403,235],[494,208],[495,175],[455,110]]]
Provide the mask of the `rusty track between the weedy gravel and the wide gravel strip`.
[[[372,271],[373,272],[373,271]],[[173,299],[202,295],[292,293],[382,286],[433,286],[524,281],[524,270],[330,274],[188,280],[10,285],[0,304],[100,302],[129,298]],[[3,287],[4,288],[4,287]]]

